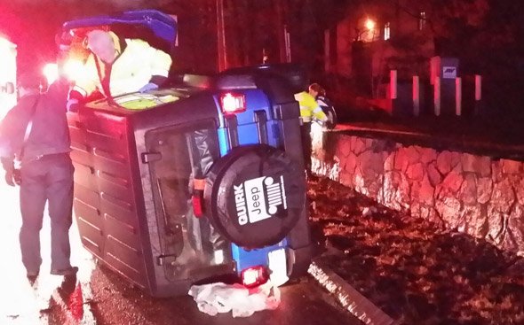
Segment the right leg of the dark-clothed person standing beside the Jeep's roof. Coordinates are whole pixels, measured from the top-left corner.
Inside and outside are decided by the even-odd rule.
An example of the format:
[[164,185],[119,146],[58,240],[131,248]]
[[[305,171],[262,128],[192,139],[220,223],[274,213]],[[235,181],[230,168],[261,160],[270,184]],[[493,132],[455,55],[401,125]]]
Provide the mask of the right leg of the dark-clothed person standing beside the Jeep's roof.
[[71,271],[69,228],[73,213],[74,168],[65,155],[59,159],[50,159],[46,164],[49,168],[47,199],[51,218],[51,269],[52,274],[65,275]]

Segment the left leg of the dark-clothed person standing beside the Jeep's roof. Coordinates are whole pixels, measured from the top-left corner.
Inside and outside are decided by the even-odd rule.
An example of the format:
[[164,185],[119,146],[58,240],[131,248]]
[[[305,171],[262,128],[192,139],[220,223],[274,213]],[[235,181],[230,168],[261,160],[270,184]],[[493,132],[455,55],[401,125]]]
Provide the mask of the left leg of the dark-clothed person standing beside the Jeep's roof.
[[20,185],[20,251],[28,275],[37,275],[42,264],[40,229],[45,207],[45,170],[33,163],[22,168]]

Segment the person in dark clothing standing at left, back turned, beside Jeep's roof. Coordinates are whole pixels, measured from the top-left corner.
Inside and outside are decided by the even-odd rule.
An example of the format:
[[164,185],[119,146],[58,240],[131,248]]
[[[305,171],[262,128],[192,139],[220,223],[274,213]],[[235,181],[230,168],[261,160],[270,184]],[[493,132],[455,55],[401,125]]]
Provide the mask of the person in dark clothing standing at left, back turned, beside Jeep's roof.
[[[73,172],[69,157],[66,103],[69,84],[55,81],[39,92],[39,76],[22,74],[20,100],[0,126],[0,156],[5,181],[20,185],[20,251],[28,279],[40,272],[40,230],[47,202],[51,219],[52,275],[75,275],[70,264],[69,228],[72,223]],[[14,160],[20,161],[20,173]]]

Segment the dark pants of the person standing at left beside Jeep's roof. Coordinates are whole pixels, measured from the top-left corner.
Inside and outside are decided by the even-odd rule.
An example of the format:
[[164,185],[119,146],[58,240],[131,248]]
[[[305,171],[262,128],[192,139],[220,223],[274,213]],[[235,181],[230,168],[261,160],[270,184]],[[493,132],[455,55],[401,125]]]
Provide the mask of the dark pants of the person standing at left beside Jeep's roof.
[[24,163],[21,168],[20,250],[28,272],[38,272],[42,264],[40,229],[45,202],[48,203],[51,219],[51,268],[60,270],[71,267],[69,228],[72,222],[73,172],[68,154],[44,156]]

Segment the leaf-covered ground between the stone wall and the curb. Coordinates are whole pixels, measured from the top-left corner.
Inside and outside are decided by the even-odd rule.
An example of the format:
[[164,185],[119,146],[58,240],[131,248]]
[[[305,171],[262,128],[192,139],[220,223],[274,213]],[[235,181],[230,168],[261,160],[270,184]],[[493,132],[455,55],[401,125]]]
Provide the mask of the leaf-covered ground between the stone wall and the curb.
[[309,182],[314,237],[338,275],[405,324],[524,324],[524,259],[377,205],[328,179]]

